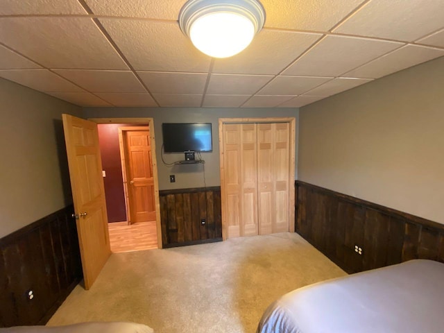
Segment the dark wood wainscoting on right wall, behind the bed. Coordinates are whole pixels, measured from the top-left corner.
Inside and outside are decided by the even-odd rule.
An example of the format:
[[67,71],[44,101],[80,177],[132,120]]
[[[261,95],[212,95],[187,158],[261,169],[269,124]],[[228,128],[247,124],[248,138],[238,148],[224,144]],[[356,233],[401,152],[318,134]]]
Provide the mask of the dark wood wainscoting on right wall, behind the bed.
[[444,262],[440,223],[300,181],[296,196],[296,232],[348,273],[409,259]]

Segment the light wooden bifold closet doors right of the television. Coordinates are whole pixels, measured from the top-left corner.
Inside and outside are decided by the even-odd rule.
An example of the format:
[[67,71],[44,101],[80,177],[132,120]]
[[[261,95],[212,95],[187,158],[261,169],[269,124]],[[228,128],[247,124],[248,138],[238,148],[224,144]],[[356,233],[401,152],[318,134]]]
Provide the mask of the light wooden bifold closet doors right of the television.
[[290,124],[224,123],[225,238],[289,231]]

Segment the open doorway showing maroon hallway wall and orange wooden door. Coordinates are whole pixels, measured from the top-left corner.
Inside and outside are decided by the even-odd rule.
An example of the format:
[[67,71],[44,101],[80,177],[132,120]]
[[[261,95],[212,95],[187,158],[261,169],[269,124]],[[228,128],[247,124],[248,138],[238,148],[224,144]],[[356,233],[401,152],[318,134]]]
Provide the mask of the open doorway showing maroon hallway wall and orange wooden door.
[[112,252],[162,248],[152,119],[90,120],[99,129]]

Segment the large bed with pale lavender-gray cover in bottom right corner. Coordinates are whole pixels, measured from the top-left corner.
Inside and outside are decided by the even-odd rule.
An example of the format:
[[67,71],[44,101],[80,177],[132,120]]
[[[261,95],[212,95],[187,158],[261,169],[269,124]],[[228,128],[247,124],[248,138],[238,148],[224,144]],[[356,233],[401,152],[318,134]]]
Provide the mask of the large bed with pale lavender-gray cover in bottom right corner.
[[444,332],[444,264],[415,259],[285,294],[257,333]]

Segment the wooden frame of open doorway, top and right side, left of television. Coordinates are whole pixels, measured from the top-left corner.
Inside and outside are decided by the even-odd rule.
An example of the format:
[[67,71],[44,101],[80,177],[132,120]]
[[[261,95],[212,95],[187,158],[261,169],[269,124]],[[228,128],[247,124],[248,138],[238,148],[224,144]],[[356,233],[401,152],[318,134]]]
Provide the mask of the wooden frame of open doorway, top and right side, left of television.
[[150,128],[151,158],[152,158],[152,162],[153,162],[155,226],[156,226],[156,231],[157,231],[157,248],[163,248],[162,226],[160,225],[159,178],[157,176],[157,157],[155,155],[154,119],[153,118],[89,118],[88,120],[94,121],[95,123],[128,123],[128,124],[130,124],[130,123],[144,123],[144,124],[148,124],[148,126]]

